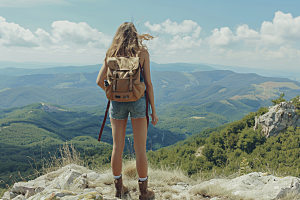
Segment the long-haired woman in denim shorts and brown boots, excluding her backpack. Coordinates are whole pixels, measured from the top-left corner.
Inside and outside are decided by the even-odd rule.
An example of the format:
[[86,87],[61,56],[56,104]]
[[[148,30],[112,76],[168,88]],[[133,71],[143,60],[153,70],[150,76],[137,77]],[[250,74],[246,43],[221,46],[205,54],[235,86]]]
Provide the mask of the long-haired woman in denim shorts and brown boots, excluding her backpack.
[[[138,55],[140,64],[143,69],[141,81],[144,79],[147,95],[152,108],[151,123],[156,125],[158,117],[154,105],[154,92],[150,78],[150,58],[146,45],[142,44],[142,40],[153,39],[151,35],[139,35],[133,23],[122,23],[112,41],[111,46],[106,52],[107,57],[130,56]],[[106,59],[105,59],[106,60]],[[104,80],[106,79],[107,66],[104,62],[98,78],[97,84],[105,90]],[[112,127],[113,136],[113,151],[111,157],[112,173],[116,187],[116,197],[121,198],[128,192],[127,187],[122,183],[122,153],[125,143],[125,132],[128,114],[131,117],[131,124],[134,136],[134,150],[136,154],[136,168],[139,175],[139,199],[151,199],[154,197],[152,189],[147,188],[148,185],[148,163],[146,155],[146,140],[147,140],[147,119],[146,119],[146,98],[145,95],[134,102],[111,102],[109,116]]]

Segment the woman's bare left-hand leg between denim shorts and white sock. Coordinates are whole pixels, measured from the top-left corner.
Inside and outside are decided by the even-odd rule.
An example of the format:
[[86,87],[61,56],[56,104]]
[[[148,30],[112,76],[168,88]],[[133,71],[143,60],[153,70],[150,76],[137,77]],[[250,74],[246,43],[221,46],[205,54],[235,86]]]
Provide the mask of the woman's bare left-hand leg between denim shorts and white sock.
[[118,120],[110,118],[110,122],[114,141],[111,155],[111,168],[113,175],[119,176],[122,173],[122,154],[125,143],[127,119]]

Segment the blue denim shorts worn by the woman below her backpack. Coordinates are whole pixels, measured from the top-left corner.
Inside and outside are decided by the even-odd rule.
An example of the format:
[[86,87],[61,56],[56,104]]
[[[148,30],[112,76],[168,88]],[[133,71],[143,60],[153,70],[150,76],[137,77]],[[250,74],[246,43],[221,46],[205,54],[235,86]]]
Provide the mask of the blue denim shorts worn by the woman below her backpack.
[[[148,104],[148,115],[151,114],[150,103]],[[128,114],[131,118],[146,117],[146,95],[137,101],[118,102],[111,101],[109,107],[109,117],[113,119],[127,119]]]

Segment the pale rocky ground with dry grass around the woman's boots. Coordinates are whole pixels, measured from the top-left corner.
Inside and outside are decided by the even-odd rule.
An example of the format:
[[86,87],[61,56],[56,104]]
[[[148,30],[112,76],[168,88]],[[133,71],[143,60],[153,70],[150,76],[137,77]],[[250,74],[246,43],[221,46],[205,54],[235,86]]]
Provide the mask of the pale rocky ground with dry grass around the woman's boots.
[[[126,169],[125,166],[123,176],[124,183],[130,189],[130,194],[124,199],[138,199],[135,168],[127,166]],[[299,178],[275,177],[261,172],[252,172],[234,179],[195,181],[180,171],[149,170],[149,177],[149,185],[155,191],[155,199],[300,198]],[[284,198],[287,194],[292,194],[293,197]],[[35,180],[15,183],[1,200],[117,199],[113,195],[114,185],[110,171],[96,172],[71,164]]]

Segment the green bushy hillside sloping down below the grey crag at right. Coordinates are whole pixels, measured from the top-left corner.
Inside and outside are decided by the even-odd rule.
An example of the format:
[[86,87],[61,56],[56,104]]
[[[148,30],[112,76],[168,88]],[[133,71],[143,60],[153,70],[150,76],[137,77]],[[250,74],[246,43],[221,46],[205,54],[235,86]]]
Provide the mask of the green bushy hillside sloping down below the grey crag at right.
[[212,128],[170,147],[148,152],[157,166],[181,167],[190,175],[216,170],[230,174],[275,170],[279,174],[299,176],[300,127],[289,127],[268,139],[261,128],[254,131],[255,116],[268,111],[261,108],[238,120]]

